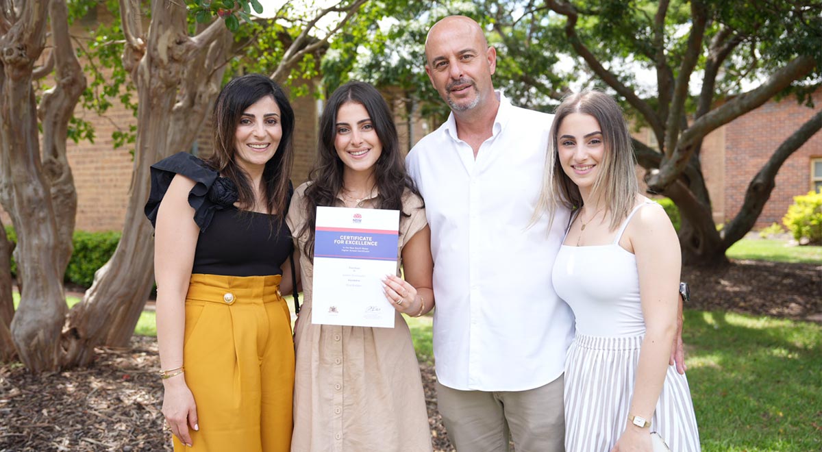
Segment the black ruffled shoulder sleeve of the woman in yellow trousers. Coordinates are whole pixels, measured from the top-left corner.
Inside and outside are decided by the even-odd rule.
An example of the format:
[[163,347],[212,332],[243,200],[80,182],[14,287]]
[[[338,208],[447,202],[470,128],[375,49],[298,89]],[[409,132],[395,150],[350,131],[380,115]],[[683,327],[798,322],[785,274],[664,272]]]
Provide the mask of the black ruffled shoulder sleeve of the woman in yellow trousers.
[[156,225],[159,203],[169,190],[176,174],[196,182],[188,192],[188,204],[194,208],[194,222],[201,232],[211,223],[215,210],[223,210],[237,201],[237,187],[228,178],[208,167],[201,159],[185,152],[179,152],[151,165],[151,192],[145,203],[145,216]]

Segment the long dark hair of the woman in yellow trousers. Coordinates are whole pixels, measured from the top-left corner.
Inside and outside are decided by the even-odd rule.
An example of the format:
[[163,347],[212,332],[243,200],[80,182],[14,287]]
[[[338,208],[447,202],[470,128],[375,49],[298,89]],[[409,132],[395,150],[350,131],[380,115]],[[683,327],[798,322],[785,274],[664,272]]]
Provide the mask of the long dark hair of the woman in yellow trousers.
[[212,121],[214,130],[214,155],[206,160],[212,168],[231,179],[237,186],[238,203],[243,207],[254,205],[254,191],[248,174],[238,166],[234,148],[234,136],[246,108],[256,101],[271,96],[279,107],[283,136],[274,157],[266,162],[262,172],[262,194],[268,213],[275,214],[282,221],[289,201],[289,178],[294,155],[292,139],[294,131],[294,111],[283,89],[267,76],[248,74],[229,81],[219,92],[214,104]]

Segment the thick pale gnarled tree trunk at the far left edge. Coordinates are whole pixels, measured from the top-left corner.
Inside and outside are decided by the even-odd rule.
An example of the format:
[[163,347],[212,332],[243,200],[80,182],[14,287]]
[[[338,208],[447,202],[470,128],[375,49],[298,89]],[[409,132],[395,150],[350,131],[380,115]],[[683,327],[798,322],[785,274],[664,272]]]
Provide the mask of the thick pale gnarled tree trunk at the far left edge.
[[[43,51],[48,1],[25,2],[0,37],[0,202],[17,234],[14,253],[23,290],[12,320],[21,361],[35,373],[58,368],[58,340],[67,311],[62,293],[57,224],[40,162],[32,71]],[[36,208],[32,208],[36,206]]]

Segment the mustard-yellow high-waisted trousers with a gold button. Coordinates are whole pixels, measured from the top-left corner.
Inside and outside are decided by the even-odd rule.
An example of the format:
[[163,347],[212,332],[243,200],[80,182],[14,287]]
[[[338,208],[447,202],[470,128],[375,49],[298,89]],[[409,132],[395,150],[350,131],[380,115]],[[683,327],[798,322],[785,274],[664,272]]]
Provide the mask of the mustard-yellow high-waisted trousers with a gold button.
[[182,359],[199,431],[174,450],[288,452],[294,344],[279,275],[192,274]]

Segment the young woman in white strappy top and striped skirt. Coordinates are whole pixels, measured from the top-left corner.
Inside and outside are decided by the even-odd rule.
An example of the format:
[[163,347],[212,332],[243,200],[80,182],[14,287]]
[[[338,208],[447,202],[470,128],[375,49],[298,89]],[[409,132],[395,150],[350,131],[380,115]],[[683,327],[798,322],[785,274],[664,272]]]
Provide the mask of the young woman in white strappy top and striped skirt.
[[688,382],[668,365],[681,255],[665,211],[639,194],[621,109],[598,91],[556,110],[539,212],[575,209],[553,284],[573,309],[567,452],[700,450]]

